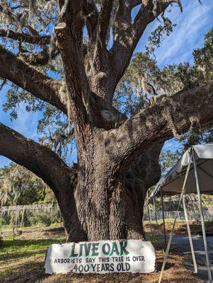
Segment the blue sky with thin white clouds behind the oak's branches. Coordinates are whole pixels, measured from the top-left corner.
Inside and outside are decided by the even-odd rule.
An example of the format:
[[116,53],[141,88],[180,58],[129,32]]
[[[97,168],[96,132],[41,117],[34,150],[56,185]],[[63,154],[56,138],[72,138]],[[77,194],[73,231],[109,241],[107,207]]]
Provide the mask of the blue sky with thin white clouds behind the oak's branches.
[[[180,62],[192,62],[192,51],[202,47],[205,34],[212,28],[213,1],[202,0],[200,5],[198,0],[184,0],[183,13],[177,7],[171,8],[171,12],[166,16],[171,18],[176,27],[169,37],[165,37],[161,46],[156,50],[156,61],[159,67],[166,64],[178,64]],[[145,30],[135,52],[145,50],[148,44],[148,37],[152,30],[159,24],[158,21],[151,23]],[[26,112],[25,105],[21,104],[18,110],[18,119],[9,119],[8,113],[2,111],[2,105],[6,102],[6,88],[0,94],[0,121],[8,127],[16,129],[25,137],[38,140],[37,125],[41,117],[40,112]],[[166,141],[164,150],[175,151],[178,148],[178,142],[174,139]],[[72,152],[71,161],[76,162],[76,150]],[[5,166],[10,161],[4,156],[0,156],[0,167]]]

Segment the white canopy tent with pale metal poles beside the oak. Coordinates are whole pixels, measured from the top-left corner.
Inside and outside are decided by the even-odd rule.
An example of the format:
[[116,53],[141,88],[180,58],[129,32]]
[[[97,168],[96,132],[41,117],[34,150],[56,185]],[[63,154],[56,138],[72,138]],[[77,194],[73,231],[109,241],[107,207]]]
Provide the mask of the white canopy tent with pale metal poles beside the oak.
[[[205,245],[205,254],[208,267],[208,277],[209,283],[212,283],[212,275],[209,263],[209,255],[207,250],[207,239],[205,233],[205,221],[202,211],[202,200],[201,193],[213,194],[213,143],[200,144],[192,146],[188,151],[183,154],[183,157],[178,161],[178,163],[171,168],[166,175],[164,175],[159,183],[156,185],[155,190],[151,193],[146,204],[149,204],[154,195],[159,191],[168,195],[180,194],[180,200],[178,204],[178,210],[180,208],[181,202],[183,203],[183,210],[185,213],[185,222],[187,224],[188,236],[190,241],[190,248],[192,251],[192,260],[195,267],[195,272],[197,272],[197,262],[195,260],[195,252],[192,244],[192,237],[190,233],[190,225],[188,222],[188,214],[185,207],[185,194],[196,193],[198,197],[198,204],[200,210],[200,219],[202,224],[202,235]],[[175,222],[177,216],[173,221],[173,226],[171,229],[171,234],[168,240],[168,245],[166,248],[166,253],[163,259],[163,265],[161,268],[161,275],[159,278],[159,283],[161,282],[163,270],[166,265],[166,260],[168,258],[168,252],[171,246],[173,231],[175,229]]]

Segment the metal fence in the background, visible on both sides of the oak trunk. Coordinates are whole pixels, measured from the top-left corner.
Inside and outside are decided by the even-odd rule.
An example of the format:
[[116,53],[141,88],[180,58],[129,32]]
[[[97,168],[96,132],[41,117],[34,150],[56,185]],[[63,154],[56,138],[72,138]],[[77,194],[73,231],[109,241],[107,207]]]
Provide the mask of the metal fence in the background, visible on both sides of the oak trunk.
[[[150,212],[150,213],[149,213]],[[165,219],[174,219],[175,211],[164,212]],[[206,221],[213,221],[213,210],[205,210]],[[24,227],[42,228],[47,226],[63,226],[62,214],[56,204],[33,204],[1,207],[0,209],[0,229],[23,229]],[[144,220],[156,221],[163,219],[161,210],[145,209]],[[200,219],[197,211],[188,210],[188,218],[190,221]],[[183,211],[178,212],[178,220],[185,219]]]

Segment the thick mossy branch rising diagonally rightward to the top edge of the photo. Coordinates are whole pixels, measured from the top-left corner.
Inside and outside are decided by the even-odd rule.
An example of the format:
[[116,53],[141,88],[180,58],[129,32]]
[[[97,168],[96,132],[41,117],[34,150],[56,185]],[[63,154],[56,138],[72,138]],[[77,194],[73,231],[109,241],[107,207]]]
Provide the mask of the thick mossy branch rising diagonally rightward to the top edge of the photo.
[[142,37],[147,25],[154,21],[174,1],[158,1],[154,6],[152,0],[140,1],[142,3],[134,22],[131,19],[132,7],[139,1],[132,1],[127,6],[127,16],[115,23],[114,44],[111,50],[115,62],[115,86],[127,69],[137,43]]

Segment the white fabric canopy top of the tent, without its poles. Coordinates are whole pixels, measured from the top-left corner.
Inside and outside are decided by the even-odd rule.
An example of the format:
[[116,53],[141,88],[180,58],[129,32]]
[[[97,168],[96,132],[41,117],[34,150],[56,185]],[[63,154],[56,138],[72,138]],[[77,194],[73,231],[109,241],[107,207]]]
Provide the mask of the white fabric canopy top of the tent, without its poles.
[[[200,183],[200,192],[213,194],[213,143],[199,144],[192,146],[191,149],[183,154],[183,157],[178,163],[164,175],[157,185],[157,188],[162,187],[163,192],[176,194],[180,193],[183,187],[186,167],[190,161],[190,151],[195,150],[195,158],[197,163],[197,173]],[[191,163],[190,173],[185,185],[185,193],[197,193],[195,184],[194,165]]]

